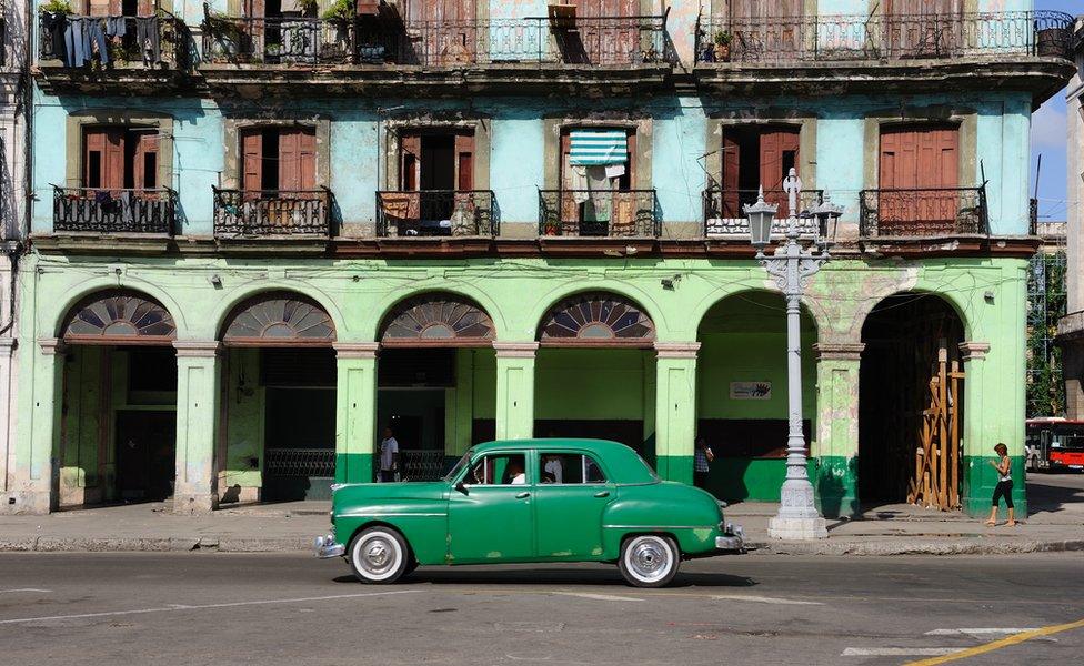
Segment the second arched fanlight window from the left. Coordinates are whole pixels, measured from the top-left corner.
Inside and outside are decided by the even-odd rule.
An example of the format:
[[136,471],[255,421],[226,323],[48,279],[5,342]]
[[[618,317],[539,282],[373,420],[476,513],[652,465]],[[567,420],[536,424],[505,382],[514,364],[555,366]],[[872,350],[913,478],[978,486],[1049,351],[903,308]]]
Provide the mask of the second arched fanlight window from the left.
[[269,293],[233,310],[222,342],[232,346],[329,346],[335,325],[324,310],[300,294]]

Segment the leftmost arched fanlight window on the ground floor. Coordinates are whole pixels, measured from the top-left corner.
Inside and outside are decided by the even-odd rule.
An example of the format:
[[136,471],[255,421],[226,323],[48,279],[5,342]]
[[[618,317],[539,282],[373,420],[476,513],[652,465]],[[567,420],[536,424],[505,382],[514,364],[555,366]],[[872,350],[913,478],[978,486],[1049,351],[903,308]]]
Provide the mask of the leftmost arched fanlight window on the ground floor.
[[129,291],[83,299],[71,309],[63,327],[64,341],[80,344],[171,344],[175,337],[169,311]]

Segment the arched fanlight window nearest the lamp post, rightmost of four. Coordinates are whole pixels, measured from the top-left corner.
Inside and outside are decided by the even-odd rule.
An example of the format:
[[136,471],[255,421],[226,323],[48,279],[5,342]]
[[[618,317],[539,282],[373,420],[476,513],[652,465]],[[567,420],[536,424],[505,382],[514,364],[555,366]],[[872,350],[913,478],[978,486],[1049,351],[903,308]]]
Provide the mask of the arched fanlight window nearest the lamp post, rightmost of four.
[[556,304],[539,329],[549,346],[650,346],[655,325],[639,305],[616,294],[580,294]]

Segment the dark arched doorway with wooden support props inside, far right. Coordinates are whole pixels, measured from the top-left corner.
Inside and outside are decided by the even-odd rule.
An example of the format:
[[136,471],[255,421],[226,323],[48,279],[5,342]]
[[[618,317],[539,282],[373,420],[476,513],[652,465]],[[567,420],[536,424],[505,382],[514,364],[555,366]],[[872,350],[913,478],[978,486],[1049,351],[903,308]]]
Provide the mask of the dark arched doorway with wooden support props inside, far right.
[[960,507],[964,325],[935,294],[881,301],[862,326],[859,500]]

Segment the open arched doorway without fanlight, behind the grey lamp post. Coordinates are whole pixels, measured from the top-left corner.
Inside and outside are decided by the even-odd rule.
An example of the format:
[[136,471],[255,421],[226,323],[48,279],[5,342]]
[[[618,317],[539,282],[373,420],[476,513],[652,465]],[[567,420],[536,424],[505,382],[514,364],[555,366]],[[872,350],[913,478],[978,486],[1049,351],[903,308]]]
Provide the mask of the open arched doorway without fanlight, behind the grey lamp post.
[[[816,415],[816,324],[803,306],[802,426]],[[707,490],[726,502],[779,502],[786,473],[786,304],[747,291],[715,303],[696,339],[696,432],[715,454]],[[812,478],[812,475],[811,475]]]

